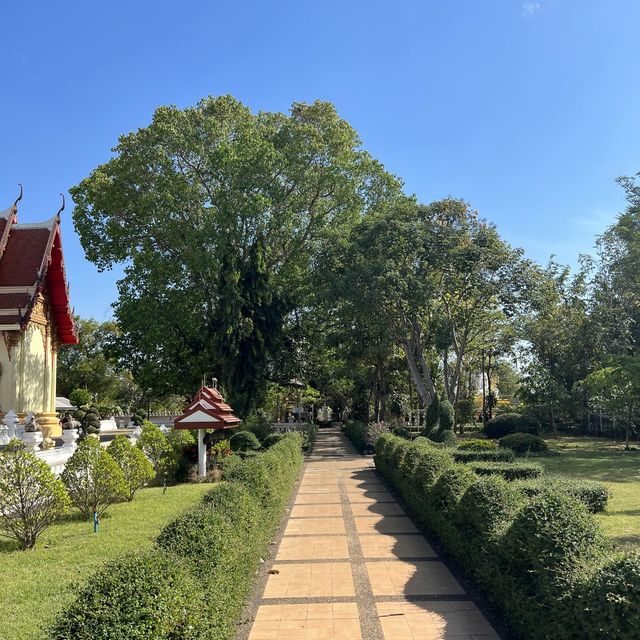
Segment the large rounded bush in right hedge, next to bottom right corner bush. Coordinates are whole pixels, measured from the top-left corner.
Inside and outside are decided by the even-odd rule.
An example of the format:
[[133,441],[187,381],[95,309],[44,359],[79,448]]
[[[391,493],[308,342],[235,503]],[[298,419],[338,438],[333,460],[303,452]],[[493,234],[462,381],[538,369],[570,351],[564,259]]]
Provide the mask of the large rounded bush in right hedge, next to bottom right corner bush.
[[503,537],[502,556],[510,574],[544,586],[570,580],[603,546],[602,531],[586,507],[549,489],[518,513]]

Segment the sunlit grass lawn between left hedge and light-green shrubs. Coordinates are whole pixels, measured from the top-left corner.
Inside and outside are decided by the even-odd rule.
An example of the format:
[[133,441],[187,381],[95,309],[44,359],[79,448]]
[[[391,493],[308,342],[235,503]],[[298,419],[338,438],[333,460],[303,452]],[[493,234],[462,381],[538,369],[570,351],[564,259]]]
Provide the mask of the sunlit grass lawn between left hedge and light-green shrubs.
[[143,489],[133,502],[112,505],[97,535],[74,512],[45,531],[33,551],[0,542],[0,640],[38,638],[76,584],[105,561],[150,546],[164,524],[210,489],[183,484],[164,495],[162,488]]

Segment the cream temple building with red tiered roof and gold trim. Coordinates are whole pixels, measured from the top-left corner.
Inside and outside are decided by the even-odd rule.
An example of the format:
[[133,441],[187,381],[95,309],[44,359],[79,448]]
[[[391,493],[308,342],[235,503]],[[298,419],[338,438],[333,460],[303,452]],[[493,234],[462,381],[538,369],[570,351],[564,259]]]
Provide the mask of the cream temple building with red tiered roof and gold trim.
[[56,362],[77,344],[60,239],[60,212],[18,222],[18,202],[0,213],[0,414],[33,412],[43,435],[60,434]]

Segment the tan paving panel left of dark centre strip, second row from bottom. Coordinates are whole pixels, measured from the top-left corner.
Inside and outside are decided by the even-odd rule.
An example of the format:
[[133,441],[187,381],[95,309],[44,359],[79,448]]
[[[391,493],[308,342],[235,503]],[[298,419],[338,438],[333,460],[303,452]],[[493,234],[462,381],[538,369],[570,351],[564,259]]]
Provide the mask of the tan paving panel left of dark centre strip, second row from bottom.
[[349,562],[274,564],[264,598],[337,598],[354,596]]

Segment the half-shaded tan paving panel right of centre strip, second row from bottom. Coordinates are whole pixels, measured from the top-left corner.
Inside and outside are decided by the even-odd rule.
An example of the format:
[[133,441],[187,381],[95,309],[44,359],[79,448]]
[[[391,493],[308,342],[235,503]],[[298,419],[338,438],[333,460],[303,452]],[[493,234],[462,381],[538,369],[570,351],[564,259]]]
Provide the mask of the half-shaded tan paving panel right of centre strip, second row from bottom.
[[464,589],[442,562],[390,560],[367,562],[376,596],[463,595]]

